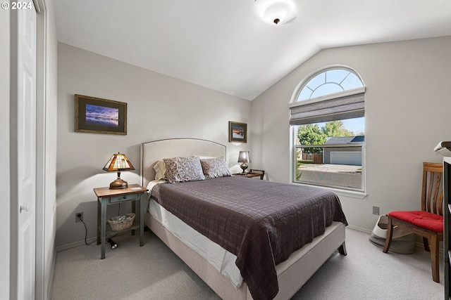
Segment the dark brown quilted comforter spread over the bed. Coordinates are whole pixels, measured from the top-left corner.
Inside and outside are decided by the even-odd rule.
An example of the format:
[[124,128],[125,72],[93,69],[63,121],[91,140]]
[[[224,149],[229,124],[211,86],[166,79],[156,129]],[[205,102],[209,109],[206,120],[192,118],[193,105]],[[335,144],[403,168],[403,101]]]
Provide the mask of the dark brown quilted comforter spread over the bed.
[[276,265],[332,221],[347,224],[335,193],[237,176],[156,185],[154,198],[179,219],[237,256],[254,299],[278,293]]

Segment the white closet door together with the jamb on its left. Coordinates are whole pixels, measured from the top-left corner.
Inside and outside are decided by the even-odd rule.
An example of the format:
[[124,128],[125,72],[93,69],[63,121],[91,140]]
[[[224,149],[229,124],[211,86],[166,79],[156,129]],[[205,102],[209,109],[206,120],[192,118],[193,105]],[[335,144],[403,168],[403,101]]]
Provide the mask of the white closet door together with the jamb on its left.
[[35,299],[37,18],[34,6],[10,9],[11,296]]

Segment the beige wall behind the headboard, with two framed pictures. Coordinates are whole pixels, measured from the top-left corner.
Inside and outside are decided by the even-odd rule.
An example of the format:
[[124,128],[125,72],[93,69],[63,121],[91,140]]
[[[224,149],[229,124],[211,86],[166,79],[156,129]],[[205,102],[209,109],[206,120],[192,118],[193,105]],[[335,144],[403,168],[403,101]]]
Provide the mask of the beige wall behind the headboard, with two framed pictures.
[[[75,93],[128,103],[128,134],[75,133]],[[78,211],[84,213],[88,238],[96,235],[92,188],[116,178],[102,171],[114,152],[125,153],[136,168],[121,174],[129,183],[140,183],[140,143],[163,138],[222,143],[233,165],[239,150],[251,149],[249,143],[228,143],[228,122],[249,122],[250,108],[248,100],[59,43],[56,246],[84,240],[84,226],[75,223]]]

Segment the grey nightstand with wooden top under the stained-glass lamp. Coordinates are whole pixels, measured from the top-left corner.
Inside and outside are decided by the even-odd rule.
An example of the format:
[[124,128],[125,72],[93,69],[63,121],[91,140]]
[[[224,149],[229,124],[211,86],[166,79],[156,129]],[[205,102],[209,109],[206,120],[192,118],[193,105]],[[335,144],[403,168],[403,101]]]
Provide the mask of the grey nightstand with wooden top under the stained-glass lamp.
[[[100,259],[105,258],[106,233],[122,233],[128,230],[135,235],[135,230],[140,230],[140,246],[144,244],[144,201],[141,200],[147,188],[139,184],[128,185],[128,188],[111,190],[109,187],[94,188],[97,196],[97,244],[101,244]],[[112,231],[111,226],[106,221],[106,207],[110,204],[118,204],[121,202],[132,201],[132,212],[135,214],[135,220],[132,227],[121,230]],[[138,205],[136,205],[136,202]]]

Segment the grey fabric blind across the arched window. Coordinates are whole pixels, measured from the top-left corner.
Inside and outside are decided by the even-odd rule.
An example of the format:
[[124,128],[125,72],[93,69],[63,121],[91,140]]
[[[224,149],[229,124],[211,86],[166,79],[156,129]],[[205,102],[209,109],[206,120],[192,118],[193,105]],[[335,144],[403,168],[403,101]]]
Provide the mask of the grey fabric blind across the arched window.
[[290,125],[314,124],[364,117],[364,95],[365,93],[355,93],[307,104],[299,101],[299,105],[290,107]]

